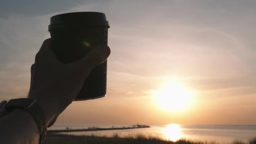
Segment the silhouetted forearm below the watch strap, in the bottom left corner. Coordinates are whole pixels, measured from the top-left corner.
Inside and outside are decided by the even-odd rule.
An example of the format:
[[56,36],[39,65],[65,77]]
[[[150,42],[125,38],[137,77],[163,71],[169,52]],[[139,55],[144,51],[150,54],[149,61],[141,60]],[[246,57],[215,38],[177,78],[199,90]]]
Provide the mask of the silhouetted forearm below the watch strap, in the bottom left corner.
[[39,129],[33,117],[16,109],[0,118],[1,144],[39,144]]

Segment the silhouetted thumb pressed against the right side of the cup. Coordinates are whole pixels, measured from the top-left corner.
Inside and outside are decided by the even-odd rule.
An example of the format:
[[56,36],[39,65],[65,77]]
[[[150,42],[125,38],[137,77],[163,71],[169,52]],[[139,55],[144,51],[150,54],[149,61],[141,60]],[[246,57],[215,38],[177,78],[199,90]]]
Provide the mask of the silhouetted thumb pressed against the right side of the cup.
[[77,61],[80,66],[85,66],[85,69],[93,68],[103,63],[110,55],[110,48],[107,45],[101,45],[93,48],[83,59]]

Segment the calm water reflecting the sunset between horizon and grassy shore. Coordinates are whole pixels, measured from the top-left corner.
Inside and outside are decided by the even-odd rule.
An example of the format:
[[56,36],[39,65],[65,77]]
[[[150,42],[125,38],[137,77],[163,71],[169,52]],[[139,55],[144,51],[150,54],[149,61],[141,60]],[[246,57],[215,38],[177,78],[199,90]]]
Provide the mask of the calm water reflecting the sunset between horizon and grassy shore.
[[[88,127],[110,128],[113,125],[54,125],[49,129],[65,129],[66,127],[88,128]],[[115,127],[131,125],[115,125]],[[93,131],[93,132],[68,132],[74,135],[97,135],[113,136],[118,133],[124,137],[127,135],[144,134],[146,136],[160,136],[164,139],[176,141],[181,138],[200,141],[216,141],[219,143],[231,143],[235,140],[245,141],[256,137],[256,125],[150,125],[151,128],[139,128],[114,131]]]

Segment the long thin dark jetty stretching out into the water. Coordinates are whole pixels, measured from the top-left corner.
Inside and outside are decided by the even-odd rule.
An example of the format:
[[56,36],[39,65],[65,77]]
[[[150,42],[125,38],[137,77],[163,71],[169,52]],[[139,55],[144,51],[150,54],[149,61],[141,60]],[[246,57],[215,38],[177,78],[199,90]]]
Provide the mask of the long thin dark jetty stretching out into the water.
[[122,126],[111,128],[98,128],[98,127],[89,127],[81,129],[71,129],[67,127],[65,130],[48,130],[47,133],[62,133],[62,132],[78,132],[78,131],[109,131],[109,130],[126,130],[126,129],[135,129],[135,128],[150,128],[149,125],[131,125],[131,126]]

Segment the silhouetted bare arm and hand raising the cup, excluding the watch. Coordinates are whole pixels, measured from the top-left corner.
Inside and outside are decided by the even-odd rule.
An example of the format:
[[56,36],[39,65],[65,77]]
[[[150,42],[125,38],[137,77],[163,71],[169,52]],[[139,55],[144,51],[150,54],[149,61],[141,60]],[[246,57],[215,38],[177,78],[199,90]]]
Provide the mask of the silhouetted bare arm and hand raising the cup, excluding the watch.
[[[54,54],[51,39],[44,41],[31,66],[28,98],[36,99],[48,127],[75,99],[91,69],[104,62],[109,54],[109,47],[101,45],[84,58],[63,64]],[[38,144],[39,137],[37,124],[28,112],[17,109],[0,118],[0,144]]]

